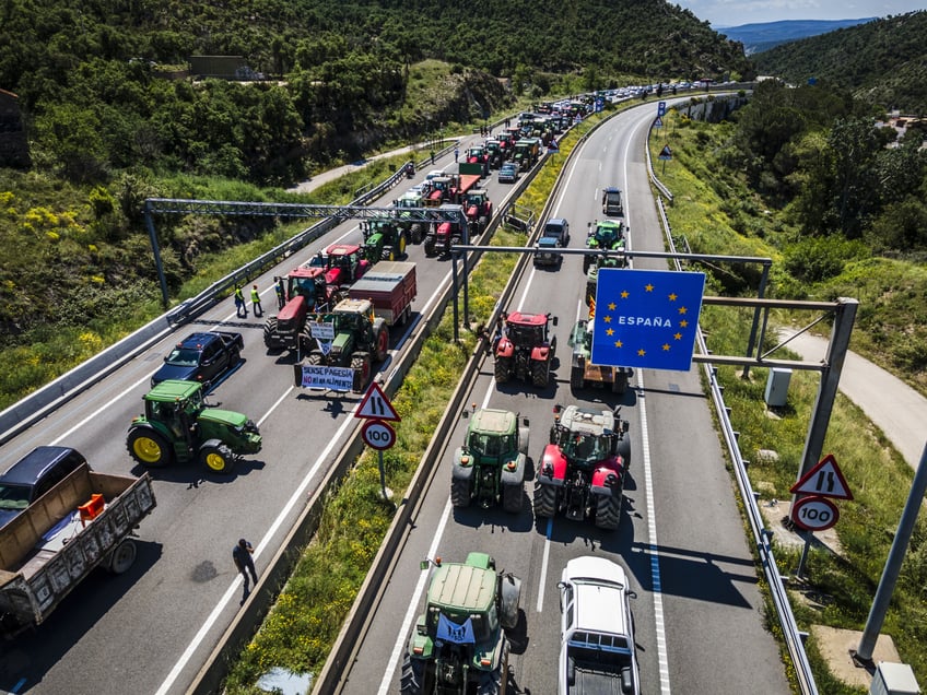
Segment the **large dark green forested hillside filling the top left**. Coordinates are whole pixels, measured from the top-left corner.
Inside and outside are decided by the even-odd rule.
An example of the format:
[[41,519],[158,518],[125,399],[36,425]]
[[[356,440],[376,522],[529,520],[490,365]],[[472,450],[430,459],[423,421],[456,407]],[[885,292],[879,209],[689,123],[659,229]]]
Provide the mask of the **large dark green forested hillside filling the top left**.
[[[289,182],[469,120],[450,98],[407,102],[425,59],[455,67],[449,91],[471,93],[477,118],[503,103],[477,72],[541,95],[552,74],[600,87],[749,70],[739,44],[664,0],[9,0],[0,44],[0,89],[26,109],[36,160],[86,181],[143,166]],[[197,55],[242,56],[270,79],[159,76]]]

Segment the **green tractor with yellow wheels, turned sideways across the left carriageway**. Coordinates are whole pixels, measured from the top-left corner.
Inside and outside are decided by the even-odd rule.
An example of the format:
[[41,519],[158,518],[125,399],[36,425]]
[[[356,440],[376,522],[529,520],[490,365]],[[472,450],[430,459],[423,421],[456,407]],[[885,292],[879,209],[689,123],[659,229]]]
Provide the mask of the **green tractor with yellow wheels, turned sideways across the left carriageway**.
[[198,381],[162,381],[144,398],[126,445],[136,461],[160,468],[199,459],[213,473],[231,473],[238,457],[257,453],[261,436],[247,415],[208,408]]

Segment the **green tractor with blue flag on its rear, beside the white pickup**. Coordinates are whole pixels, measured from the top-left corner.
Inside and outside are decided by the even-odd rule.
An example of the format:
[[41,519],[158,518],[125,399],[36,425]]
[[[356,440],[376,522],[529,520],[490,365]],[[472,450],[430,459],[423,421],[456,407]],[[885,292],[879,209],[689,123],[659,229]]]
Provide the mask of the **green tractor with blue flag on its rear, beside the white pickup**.
[[[431,561],[422,562],[427,569]],[[403,695],[504,694],[508,638],[518,624],[521,580],[497,573],[485,553],[465,563],[434,561],[425,612],[419,615],[402,663]]]

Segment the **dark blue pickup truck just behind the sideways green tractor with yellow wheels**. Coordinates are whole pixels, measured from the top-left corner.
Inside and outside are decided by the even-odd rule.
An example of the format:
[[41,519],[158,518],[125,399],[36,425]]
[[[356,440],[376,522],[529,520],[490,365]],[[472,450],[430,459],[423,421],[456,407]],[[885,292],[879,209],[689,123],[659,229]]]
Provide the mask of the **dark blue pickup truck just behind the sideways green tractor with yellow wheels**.
[[161,368],[151,377],[157,386],[168,379],[199,381],[209,388],[240,362],[245,349],[242,333],[201,331],[190,333],[174,346]]

